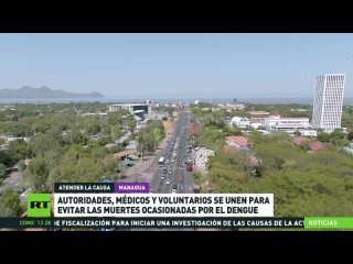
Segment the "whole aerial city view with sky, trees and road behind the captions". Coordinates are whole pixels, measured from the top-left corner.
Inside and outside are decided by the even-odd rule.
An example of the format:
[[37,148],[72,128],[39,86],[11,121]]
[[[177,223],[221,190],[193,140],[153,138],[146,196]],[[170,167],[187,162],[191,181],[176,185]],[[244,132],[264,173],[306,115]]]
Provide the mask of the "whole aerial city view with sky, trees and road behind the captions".
[[[3,62],[22,56],[0,62],[0,217],[26,217],[28,194],[54,183],[113,182],[274,194],[281,217],[353,213],[352,34],[99,37],[0,34]],[[323,40],[341,50],[313,50]],[[315,68],[303,51],[327,59]]]

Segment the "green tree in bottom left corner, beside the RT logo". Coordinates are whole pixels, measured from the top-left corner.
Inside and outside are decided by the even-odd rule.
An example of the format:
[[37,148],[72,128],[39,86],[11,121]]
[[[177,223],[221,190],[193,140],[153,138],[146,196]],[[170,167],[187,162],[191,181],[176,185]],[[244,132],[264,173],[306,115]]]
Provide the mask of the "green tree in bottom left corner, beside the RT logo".
[[0,196],[0,217],[20,217],[21,211],[20,196],[12,189],[7,189]]

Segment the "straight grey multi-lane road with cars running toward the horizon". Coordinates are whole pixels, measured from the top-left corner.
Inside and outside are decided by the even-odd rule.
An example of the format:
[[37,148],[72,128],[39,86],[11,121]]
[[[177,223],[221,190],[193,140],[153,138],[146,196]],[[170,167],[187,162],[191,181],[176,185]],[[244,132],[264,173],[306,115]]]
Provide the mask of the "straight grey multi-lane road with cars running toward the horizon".
[[[185,156],[191,156],[186,152],[190,135],[190,120],[192,114],[181,110],[178,120],[174,123],[174,133],[164,150],[154,158],[151,168],[154,170],[150,182],[150,188],[156,194],[171,194],[172,187],[176,186],[176,194],[193,194],[193,178],[191,173],[186,172]],[[173,154],[176,155],[173,162]],[[164,165],[158,165],[159,157],[164,156]],[[167,163],[165,161],[169,161]],[[181,166],[180,166],[181,164]],[[167,173],[163,173],[167,169]],[[167,182],[170,180],[170,184]]]

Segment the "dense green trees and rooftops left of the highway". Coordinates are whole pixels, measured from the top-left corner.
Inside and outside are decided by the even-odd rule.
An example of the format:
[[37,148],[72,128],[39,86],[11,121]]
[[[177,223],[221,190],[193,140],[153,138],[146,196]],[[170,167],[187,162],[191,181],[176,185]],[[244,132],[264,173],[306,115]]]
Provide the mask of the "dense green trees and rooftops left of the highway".
[[[0,151],[3,166],[19,162],[23,180],[34,193],[52,191],[55,182],[100,182],[117,179],[125,167],[113,156],[124,144],[105,147],[130,132],[136,120],[128,111],[107,116],[84,116],[106,111],[104,103],[14,105],[0,112],[0,133],[17,136]],[[30,158],[26,167],[23,161]]]

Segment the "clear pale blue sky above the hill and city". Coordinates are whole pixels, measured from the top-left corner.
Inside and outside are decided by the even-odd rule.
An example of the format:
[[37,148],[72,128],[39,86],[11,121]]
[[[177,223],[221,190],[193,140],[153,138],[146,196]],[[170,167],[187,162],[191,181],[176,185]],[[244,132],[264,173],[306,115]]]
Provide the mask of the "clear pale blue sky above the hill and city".
[[98,91],[111,98],[313,97],[345,74],[353,34],[0,34],[0,88]]

